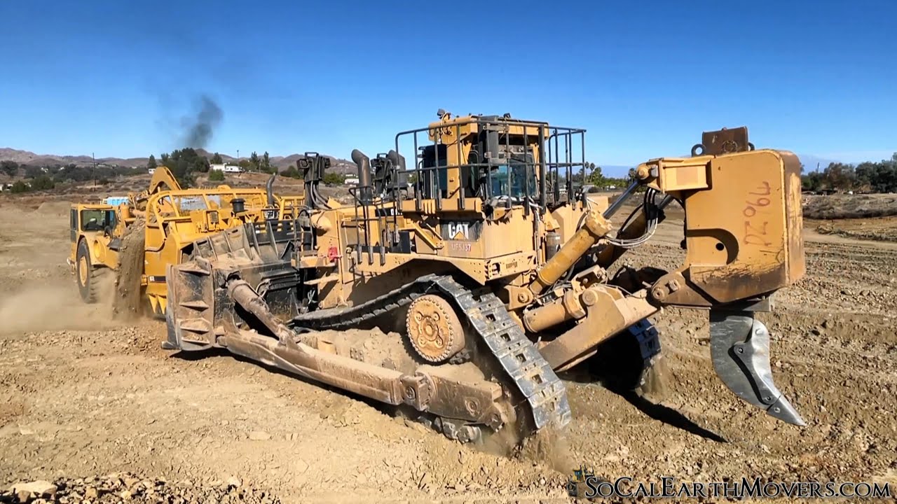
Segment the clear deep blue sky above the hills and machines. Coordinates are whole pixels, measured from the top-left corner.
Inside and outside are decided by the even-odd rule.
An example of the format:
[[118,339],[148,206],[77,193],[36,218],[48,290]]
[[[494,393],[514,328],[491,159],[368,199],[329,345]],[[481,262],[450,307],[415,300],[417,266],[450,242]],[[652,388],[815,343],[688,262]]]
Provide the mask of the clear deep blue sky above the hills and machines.
[[[687,6],[686,6],[687,4]],[[897,151],[893,0],[0,1],[0,147],[385,152],[437,109],[588,129],[587,158],[684,155],[701,131],[839,161]]]

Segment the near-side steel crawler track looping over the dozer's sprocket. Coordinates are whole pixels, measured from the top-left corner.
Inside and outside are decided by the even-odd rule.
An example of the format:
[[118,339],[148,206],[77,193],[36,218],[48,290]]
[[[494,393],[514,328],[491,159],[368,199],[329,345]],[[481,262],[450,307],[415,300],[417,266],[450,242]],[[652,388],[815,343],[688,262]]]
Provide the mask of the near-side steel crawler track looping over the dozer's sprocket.
[[430,274],[352,308],[319,310],[292,319],[293,326],[312,330],[344,329],[373,321],[414,299],[439,291],[463,314],[467,325],[498,361],[522,395],[536,430],[570,422],[570,404],[561,378],[544,360],[504,303],[486,288],[470,291],[448,275]]

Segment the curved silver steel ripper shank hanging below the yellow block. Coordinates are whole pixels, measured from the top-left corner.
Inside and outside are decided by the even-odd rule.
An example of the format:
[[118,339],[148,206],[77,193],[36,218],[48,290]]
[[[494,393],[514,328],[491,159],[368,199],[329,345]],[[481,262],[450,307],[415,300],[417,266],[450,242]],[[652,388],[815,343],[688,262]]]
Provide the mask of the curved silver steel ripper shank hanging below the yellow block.
[[710,357],[736,395],[781,421],[806,425],[772,381],[770,332],[752,312],[710,310]]

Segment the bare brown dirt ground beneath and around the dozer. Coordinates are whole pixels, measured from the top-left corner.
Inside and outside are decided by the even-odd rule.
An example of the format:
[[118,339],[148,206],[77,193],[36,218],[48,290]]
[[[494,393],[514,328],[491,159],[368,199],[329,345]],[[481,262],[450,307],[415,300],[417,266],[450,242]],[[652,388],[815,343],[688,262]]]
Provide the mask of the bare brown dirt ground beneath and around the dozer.
[[[807,226],[808,274],[760,316],[777,385],[806,428],[739,402],[713,373],[706,314],[670,309],[656,317],[666,400],[570,378],[566,448],[544,460],[476,451],[229,355],[162,351],[162,322],[120,326],[108,308],[81,304],[65,208],[33,207],[0,204],[0,491],[65,480],[68,501],[155,502],[152,489],[166,487],[184,502],[566,502],[567,471],[580,464],[641,482],[762,476],[897,490],[897,243]],[[681,218],[631,261],[679,264]]]

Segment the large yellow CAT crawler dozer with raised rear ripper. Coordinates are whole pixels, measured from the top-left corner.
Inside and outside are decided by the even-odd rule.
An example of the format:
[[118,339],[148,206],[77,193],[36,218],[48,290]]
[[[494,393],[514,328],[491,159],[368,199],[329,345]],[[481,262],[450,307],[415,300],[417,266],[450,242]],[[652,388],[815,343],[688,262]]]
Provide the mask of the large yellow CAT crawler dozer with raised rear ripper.
[[[353,152],[360,182],[346,206],[318,197],[323,172],[300,166],[310,196],[297,219],[211,235],[170,266],[163,346],[225,348],[396,405],[452,439],[524,439],[570,421],[559,372],[615,335],[638,343],[649,368],[659,352],[649,317],[698,308],[709,310],[719,378],[802,425],[772,381],[770,335],[754,317],[804,274],[797,157],[755,150],[746,128],[710,132],[692,157],[642,163],[609,204],[572,185],[585,176],[584,136],[440,110],[388,153]],[[410,168],[403,147],[414,149]],[[413,196],[396,190],[408,173]],[[639,207],[614,226],[633,197]],[[621,265],[674,201],[685,211],[683,265]]]

